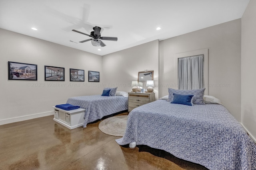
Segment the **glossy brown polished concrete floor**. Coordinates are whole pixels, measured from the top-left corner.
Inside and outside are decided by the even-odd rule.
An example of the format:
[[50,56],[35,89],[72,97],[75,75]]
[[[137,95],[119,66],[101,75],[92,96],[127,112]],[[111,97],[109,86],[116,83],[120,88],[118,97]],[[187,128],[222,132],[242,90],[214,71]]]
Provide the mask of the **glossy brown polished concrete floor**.
[[161,150],[121,147],[98,124],[70,130],[52,115],[1,125],[0,170],[206,170]]

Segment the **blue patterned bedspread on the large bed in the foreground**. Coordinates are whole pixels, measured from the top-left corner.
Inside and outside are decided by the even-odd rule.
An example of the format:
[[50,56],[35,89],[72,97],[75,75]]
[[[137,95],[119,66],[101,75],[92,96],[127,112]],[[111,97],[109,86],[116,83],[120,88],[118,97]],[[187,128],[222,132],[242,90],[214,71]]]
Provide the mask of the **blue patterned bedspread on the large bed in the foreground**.
[[157,100],[133,109],[119,145],[162,149],[210,170],[256,170],[256,144],[222,105]]

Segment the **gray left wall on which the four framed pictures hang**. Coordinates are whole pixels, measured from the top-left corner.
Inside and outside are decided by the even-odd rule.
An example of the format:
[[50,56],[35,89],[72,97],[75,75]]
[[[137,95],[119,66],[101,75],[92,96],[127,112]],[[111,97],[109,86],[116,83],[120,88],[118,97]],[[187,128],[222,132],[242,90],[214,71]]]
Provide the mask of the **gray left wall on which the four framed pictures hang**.
[[[0,125],[53,114],[52,106],[71,96],[100,94],[88,83],[88,70],[102,72],[102,56],[0,29]],[[38,81],[8,80],[8,61],[38,65]],[[44,81],[44,65],[65,68],[65,81]],[[85,72],[85,82],[70,82],[69,69]]]

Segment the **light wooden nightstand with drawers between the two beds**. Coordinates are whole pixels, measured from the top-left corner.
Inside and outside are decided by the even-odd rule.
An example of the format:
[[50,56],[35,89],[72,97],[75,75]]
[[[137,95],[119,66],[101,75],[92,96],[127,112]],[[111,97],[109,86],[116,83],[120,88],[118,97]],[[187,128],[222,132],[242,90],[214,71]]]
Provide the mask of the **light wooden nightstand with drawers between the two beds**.
[[154,101],[155,93],[128,93],[128,111]]

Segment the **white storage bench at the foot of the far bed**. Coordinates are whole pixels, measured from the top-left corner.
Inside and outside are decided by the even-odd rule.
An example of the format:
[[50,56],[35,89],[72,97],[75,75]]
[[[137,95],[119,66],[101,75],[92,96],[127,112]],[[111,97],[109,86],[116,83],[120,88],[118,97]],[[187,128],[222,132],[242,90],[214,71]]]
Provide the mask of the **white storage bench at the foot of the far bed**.
[[79,108],[73,110],[63,110],[55,106],[53,106],[53,108],[53,120],[67,127],[68,129],[75,129],[83,125],[85,109]]

